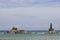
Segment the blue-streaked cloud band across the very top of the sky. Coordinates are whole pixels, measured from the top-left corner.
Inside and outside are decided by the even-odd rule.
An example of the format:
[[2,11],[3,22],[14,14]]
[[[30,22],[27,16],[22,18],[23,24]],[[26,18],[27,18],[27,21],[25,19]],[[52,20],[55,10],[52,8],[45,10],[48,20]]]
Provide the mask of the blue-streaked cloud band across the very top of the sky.
[[56,0],[0,0],[0,8],[14,7],[57,7],[60,1]]

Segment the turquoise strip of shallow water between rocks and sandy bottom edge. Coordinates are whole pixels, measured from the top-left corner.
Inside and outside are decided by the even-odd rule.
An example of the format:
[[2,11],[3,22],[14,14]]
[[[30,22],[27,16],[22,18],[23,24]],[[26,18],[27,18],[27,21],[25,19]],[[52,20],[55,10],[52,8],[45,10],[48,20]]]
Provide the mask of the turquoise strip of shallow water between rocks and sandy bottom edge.
[[0,34],[0,38],[32,38],[32,37],[57,37],[60,34],[43,34],[39,32],[38,34]]

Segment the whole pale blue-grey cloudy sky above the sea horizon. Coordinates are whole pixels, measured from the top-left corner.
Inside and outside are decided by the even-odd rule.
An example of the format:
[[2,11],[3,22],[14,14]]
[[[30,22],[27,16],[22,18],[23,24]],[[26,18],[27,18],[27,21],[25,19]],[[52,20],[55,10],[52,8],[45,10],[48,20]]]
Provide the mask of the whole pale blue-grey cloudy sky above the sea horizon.
[[60,0],[0,0],[0,30],[60,30]]

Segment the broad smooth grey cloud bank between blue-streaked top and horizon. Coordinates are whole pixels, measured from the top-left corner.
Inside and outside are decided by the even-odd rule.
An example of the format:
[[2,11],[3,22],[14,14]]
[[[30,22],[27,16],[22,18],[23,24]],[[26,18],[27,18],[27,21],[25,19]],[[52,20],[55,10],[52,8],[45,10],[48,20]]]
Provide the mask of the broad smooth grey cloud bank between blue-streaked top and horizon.
[[[1,29],[10,29],[13,25],[25,30],[47,30],[50,22],[59,29],[60,8],[57,7],[19,7],[1,8]],[[4,27],[4,28],[3,28]]]

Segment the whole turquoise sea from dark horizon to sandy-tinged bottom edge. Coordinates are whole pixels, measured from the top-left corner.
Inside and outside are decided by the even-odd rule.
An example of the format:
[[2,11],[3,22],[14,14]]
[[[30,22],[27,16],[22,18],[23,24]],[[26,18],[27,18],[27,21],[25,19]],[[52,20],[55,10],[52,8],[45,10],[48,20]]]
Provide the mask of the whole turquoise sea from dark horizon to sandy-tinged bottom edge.
[[60,40],[59,34],[44,34],[47,31],[30,31],[32,34],[2,34],[0,31],[0,40]]

